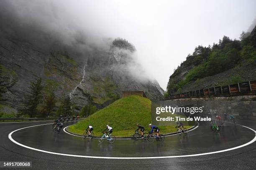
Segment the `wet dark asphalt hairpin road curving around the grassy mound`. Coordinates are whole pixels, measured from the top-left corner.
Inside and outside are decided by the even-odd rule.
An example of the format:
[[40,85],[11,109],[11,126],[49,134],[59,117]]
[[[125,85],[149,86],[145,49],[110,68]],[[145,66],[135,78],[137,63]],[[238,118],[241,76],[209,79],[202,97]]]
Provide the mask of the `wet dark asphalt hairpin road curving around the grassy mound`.
[[[256,122],[237,121],[256,129]],[[23,148],[11,142],[8,134],[20,128],[51,123],[22,122],[0,123],[0,161],[31,161],[33,168],[27,169],[243,169],[256,168],[256,143],[243,148],[223,153],[184,158],[161,159],[96,159],[78,158],[43,153]],[[64,123],[64,127],[75,122]],[[233,148],[248,143],[255,133],[241,126],[225,124],[218,133],[212,133],[210,128],[201,125],[184,135],[166,137],[164,143],[148,143],[144,140],[116,140],[114,144],[99,143],[97,139],[88,140],[72,136],[64,131],[55,133],[51,125],[41,125],[26,128],[13,133],[12,137],[18,143],[41,150],[73,155],[104,156],[104,157],[158,157],[191,155],[208,153]],[[113,133],[114,134],[114,133]],[[7,169],[7,168],[3,168]],[[15,168],[12,168],[15,169]],[[26,169],[26,168],[22,168]]]

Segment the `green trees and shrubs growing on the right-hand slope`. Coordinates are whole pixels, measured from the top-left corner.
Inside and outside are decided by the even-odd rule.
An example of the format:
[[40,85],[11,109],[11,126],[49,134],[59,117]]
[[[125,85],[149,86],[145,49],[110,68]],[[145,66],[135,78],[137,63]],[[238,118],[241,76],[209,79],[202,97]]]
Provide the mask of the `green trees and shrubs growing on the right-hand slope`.
[[[212,76],[232,69],[241,67],[256,61],[256,28],[250,33],[242,32],[240,40],[231,40],[224,36],[219,43],[203,47],[199,45],[192,54],[189,54],[181,66],[170,76],[167,85],[168,94],[180,92],[182,87],[191,81],[198,81],[203,77]],[[192,67],[183,80],[174,82],[173,77],[182,72],[181,67]],[[234,75],[227,83],[242,82],[243,78]]]

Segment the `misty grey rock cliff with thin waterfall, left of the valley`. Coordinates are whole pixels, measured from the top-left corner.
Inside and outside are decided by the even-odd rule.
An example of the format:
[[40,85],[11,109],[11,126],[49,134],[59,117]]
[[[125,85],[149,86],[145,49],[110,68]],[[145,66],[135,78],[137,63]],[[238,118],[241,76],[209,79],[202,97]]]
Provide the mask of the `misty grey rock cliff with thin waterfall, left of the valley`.
[[[136,62],[136,48],[127,40],[93,39],[25,22],[15,10],[0,12],[0,79],[5,105],[18,109],[30,82],[41,77],[58,102],[70,95],[79,111],[88,102],[98,108],[120,98],[122,91],[143,90],[151,100],[163,90]],[[60,29],[60,28],[58,28]]]

